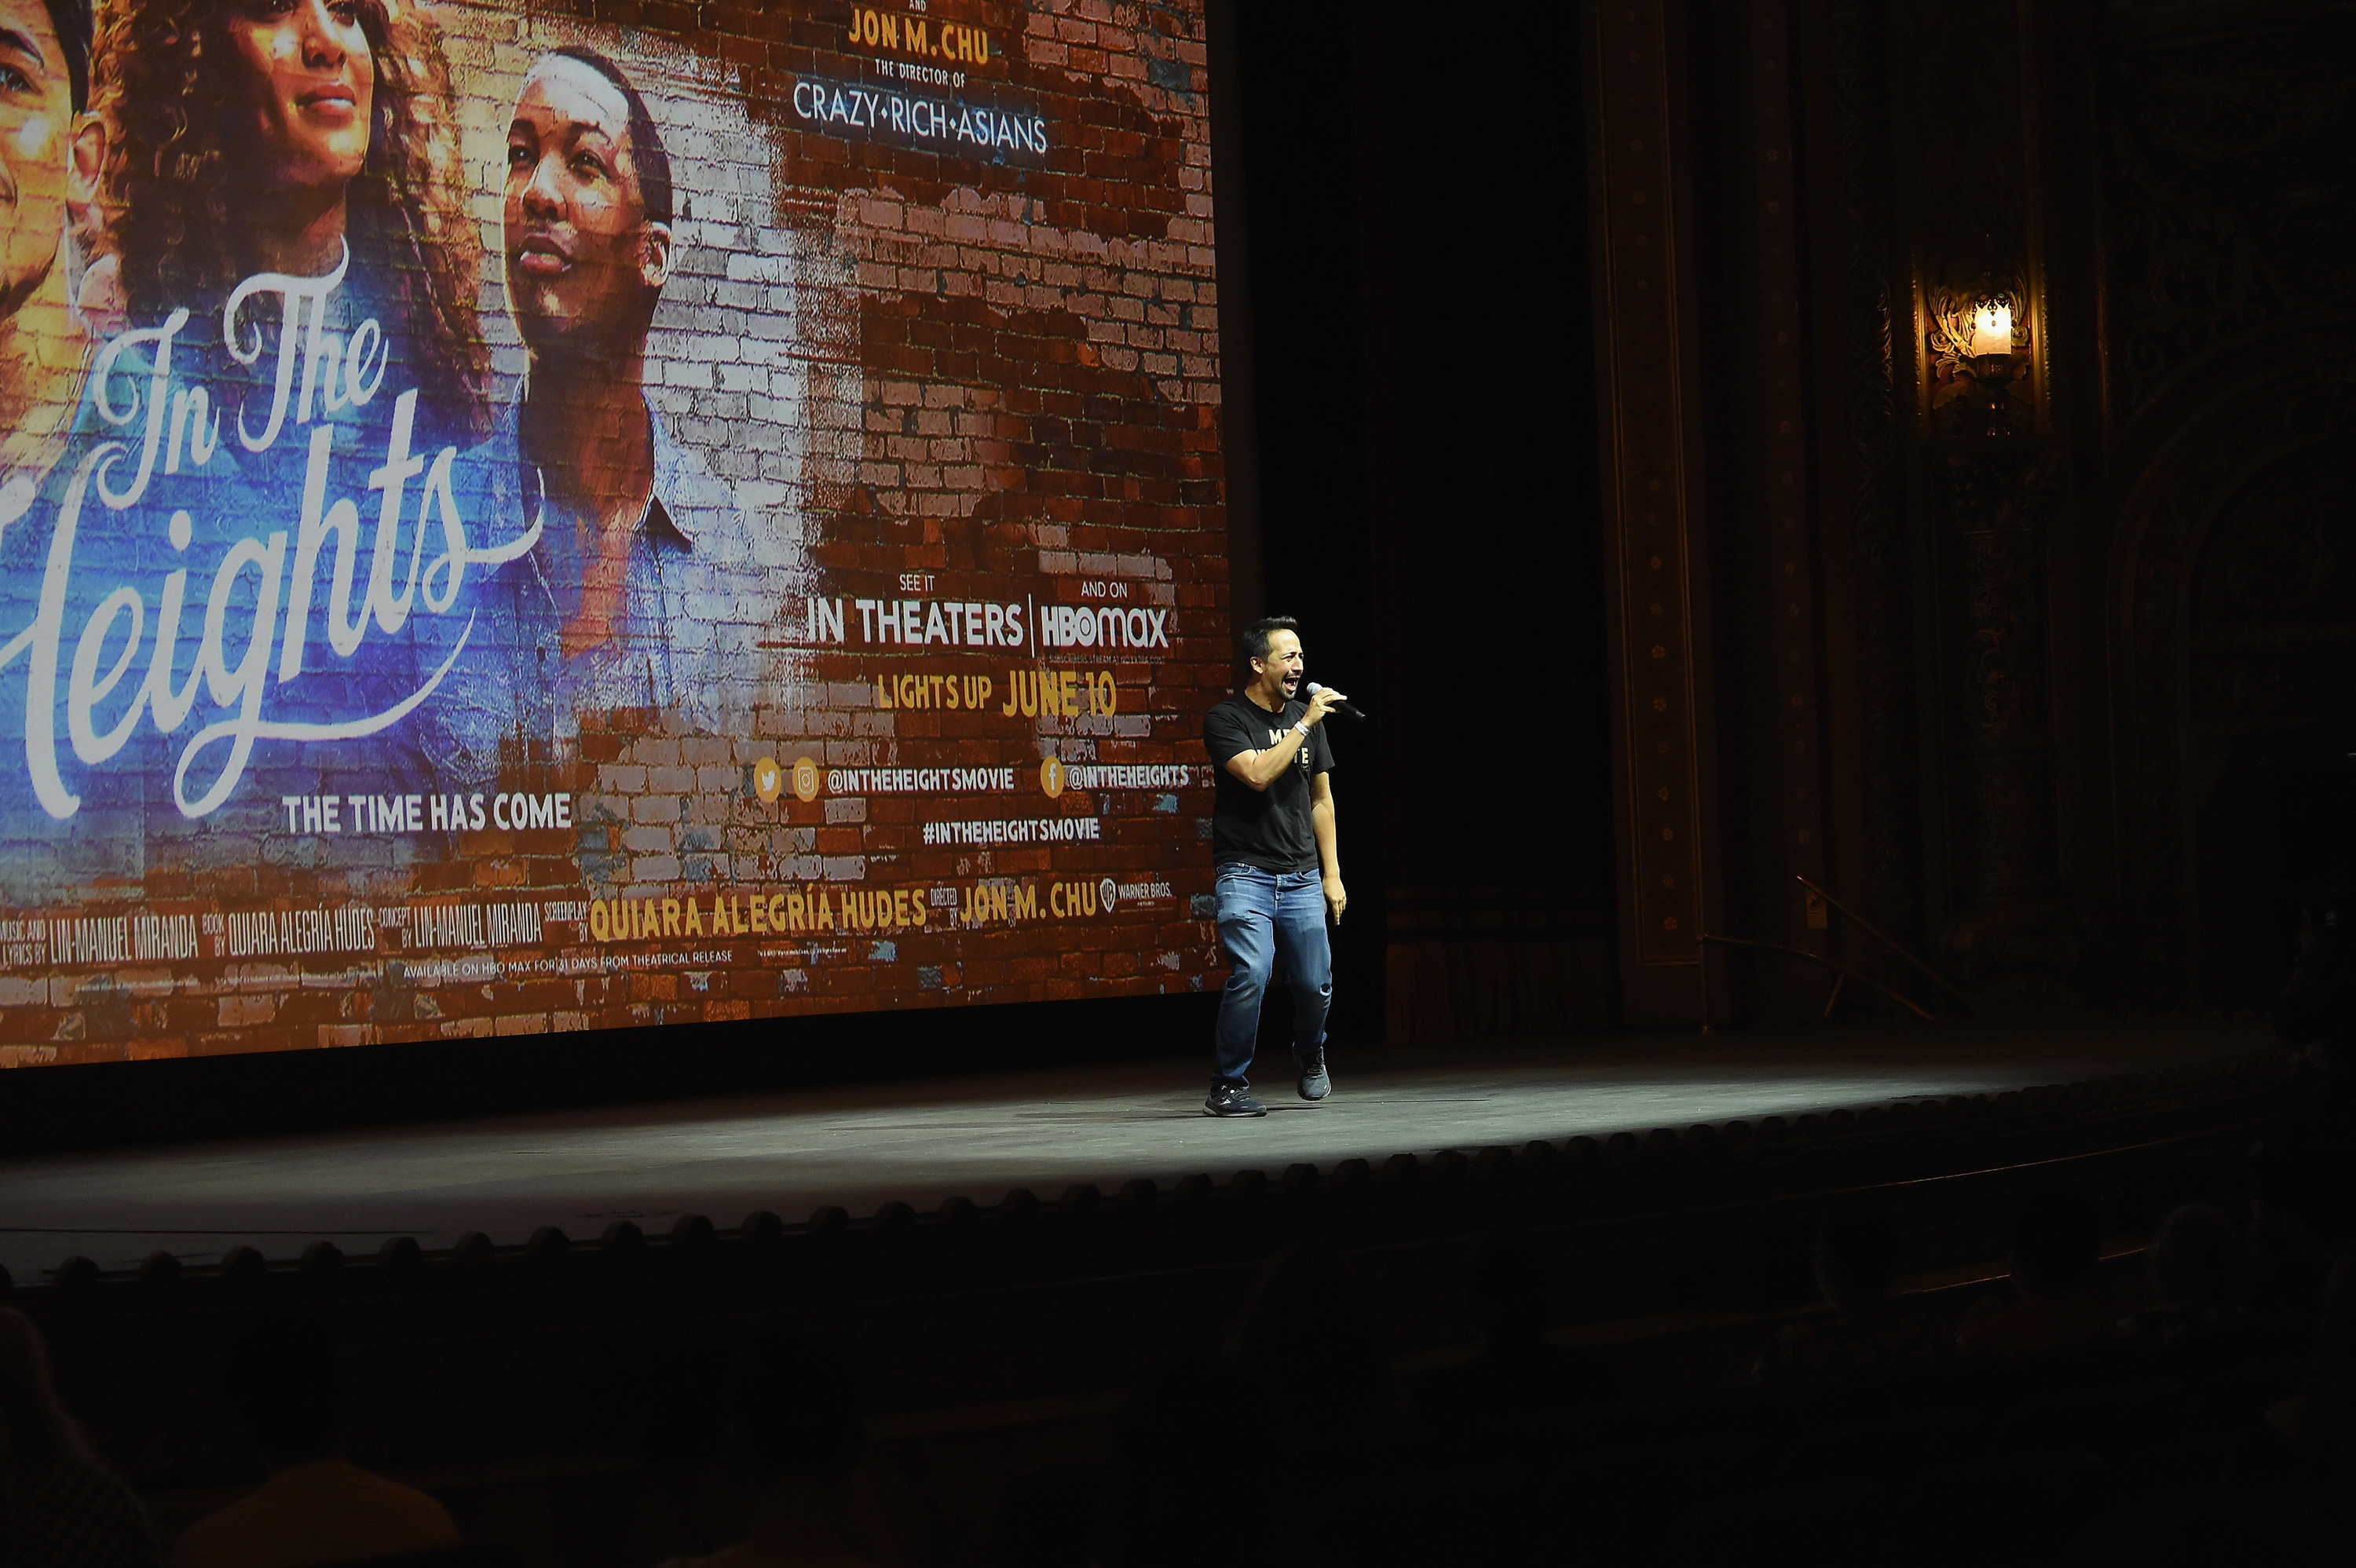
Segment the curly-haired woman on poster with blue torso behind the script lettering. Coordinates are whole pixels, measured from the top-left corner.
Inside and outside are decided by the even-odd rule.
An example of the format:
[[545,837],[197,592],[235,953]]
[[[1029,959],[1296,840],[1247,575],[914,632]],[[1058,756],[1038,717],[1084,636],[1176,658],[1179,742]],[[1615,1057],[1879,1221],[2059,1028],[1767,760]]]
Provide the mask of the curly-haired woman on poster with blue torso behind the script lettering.
[[125,320],[40,527],[0,542],[0,636],[71,671],[0,683],[0,744],[26,746],[0,824],[85,885],[252,866],[287,796],[422,793],[419,622],[497,560],[426,506],[490,379],[434,21],[106,0],[92,85],[106,259],[80,297]]

